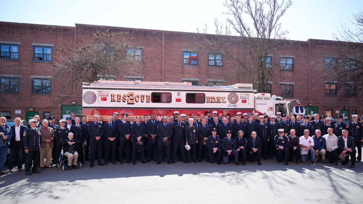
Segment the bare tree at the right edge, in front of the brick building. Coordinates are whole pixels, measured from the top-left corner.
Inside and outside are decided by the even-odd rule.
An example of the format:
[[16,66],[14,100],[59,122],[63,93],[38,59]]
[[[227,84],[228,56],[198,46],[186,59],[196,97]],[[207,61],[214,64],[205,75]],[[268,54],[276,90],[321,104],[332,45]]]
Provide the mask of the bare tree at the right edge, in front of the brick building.
[[353,14],[354,29],[341,24],[338,34],[333,35],[335,42],[329,55],[313,63],[320,63],[319,71],[327,81],[336,84],[337,101],[348,102],[350,99],[363,99],[363,12]]

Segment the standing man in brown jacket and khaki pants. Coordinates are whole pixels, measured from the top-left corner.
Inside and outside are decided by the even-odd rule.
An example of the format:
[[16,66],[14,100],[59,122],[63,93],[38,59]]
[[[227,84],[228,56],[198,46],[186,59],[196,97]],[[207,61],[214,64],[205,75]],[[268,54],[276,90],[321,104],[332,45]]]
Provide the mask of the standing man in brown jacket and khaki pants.
[[[40,131],[42,132],[42,149],[40,150],[40,169],[52,168],[50,166],[50,160],[52,159],[52,150],[54,148],[54,130],[48,127],[48,121],[44,119],[42,121],[42,127]],[[44,166],[44,156],[45,156],[45,166]]]

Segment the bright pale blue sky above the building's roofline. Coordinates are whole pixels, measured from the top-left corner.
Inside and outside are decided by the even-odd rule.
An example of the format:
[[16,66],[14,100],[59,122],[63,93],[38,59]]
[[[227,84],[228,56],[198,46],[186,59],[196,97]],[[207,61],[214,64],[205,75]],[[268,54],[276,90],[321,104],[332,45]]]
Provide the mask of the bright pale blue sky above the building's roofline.
[[[225,21],[224,0],[0,0],[0,21],[74,26],[75,23],[196,32]],[[290,40],[332,40],[340,21],[349,23],[363,0],[293,0],[282,19]]]

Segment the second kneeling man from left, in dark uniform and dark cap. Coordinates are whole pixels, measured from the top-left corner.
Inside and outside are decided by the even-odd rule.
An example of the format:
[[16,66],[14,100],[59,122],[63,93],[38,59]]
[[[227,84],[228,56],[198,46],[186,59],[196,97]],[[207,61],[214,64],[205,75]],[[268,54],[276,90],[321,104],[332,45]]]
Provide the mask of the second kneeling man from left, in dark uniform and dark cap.
[[229,155],[233,155],[234,164],[240,166],[240,164],[238,163],[238,151],[237,151],[236,141],[233,138],[231,138],[231,136],[232,136],[232,131],[227,130],[227,137],[223,138],[222,140],[221,149],[223,152],[222,153],[223,163],[227,164]]

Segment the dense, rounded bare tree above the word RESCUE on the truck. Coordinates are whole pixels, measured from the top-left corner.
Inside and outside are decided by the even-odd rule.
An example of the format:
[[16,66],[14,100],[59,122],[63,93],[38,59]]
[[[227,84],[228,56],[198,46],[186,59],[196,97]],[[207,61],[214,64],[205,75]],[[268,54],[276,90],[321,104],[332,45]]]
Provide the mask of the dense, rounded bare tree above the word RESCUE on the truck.
[[62,81],[63,87],[80,87],[82,82],[97,81],[97,77],[108,80],[137,76],[142,68],[142,55],[130,40],[128,32],[97,31],[82,46],[61,48],[53,76]]

